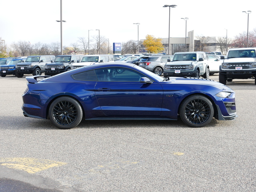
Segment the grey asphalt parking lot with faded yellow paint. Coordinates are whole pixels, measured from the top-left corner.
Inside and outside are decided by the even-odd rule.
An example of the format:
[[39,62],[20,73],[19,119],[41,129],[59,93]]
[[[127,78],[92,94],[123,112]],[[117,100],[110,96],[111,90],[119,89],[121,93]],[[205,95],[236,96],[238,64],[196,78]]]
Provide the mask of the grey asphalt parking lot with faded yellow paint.
[[227,82],[236,92],[236,120],[203,128],[180,119],[82,121],[60,130],[23,116],[25,76],[0,77],[0,191],[256,191],[252,79]]

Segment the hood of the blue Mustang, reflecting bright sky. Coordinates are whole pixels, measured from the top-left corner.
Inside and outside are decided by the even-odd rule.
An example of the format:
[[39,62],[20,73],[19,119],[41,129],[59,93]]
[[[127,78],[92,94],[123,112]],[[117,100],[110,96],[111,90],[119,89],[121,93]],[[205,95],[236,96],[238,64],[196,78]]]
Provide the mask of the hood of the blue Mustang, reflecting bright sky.
[[174,77],[170,78],[169,81],[167,81],[168,84],[180,84],[180,85],[191,85],[191,89],[196,90],[196,87],[198,86],[212,86],[214,88],[218,88],[220,91],[227,91],[227,92],[234,92],[231,88],[228,86],[221,84],[219,82],[216,82],[214,80],[210,79],[204,79],[204,78],[196,78],[196,77]]

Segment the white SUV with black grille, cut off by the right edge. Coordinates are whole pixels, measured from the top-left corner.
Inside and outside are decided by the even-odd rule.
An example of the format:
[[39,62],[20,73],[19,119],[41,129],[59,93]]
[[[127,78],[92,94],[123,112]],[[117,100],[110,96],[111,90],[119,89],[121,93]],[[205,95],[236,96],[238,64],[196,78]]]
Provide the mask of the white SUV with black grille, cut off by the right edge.
[[233,79],[254,78],[256,84],[256,48],[232,48],[220,65],[219,82],[226,85]]

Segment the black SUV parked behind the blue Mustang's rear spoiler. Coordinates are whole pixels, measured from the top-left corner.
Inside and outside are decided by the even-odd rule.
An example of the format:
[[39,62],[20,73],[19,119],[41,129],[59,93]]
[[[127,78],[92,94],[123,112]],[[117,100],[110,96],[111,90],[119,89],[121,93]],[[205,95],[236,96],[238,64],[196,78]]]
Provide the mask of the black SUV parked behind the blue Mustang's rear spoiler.
[[82,55],[58,55],[54,62],[45,65],[44,74],[53,76],[71,70],[72,63],[79,63]]

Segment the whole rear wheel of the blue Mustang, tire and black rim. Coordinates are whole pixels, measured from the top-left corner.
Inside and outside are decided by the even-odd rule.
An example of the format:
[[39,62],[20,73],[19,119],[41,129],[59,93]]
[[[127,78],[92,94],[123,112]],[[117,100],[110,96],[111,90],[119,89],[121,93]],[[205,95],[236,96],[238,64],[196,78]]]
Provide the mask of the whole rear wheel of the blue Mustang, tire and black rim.
[[72,97],[59,97],[49,108],[49,118],[54,126],[60,129],[71,129],[77,126],[83,116],[81,105]]

